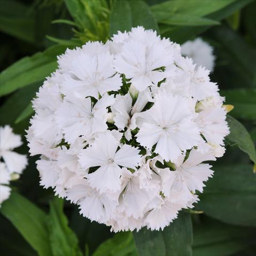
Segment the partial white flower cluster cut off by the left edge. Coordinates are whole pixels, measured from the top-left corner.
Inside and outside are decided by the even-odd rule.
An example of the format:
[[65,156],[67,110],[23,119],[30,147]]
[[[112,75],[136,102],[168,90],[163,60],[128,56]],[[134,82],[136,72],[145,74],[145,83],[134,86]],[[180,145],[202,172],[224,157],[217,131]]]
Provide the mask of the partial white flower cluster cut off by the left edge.
[[22,145],[21,137],[14,134],[9,125],[0,127],[0,207],[11,194],[11,180],[19,179],[19,175],[28,164],[27,156],[13,151]]

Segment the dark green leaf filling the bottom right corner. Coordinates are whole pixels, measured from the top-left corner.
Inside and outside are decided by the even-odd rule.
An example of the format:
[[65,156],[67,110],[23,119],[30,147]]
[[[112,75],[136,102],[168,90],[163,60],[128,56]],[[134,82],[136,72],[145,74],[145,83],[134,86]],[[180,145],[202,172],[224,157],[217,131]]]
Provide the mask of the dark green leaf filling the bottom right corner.
[[193,225],[194,256],[228,256],[253,244],[255,229],[227,225],[205,218]]

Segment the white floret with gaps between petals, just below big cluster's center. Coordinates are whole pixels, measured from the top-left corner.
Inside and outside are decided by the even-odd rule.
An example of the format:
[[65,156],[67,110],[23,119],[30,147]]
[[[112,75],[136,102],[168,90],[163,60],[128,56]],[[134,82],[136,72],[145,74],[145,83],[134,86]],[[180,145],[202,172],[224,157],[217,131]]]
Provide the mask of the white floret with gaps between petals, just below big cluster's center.
[[93,188],[100,192],[115,192],[121,188],[122,169],[119,166],[135,169],[140,162],[140,155],[137,148],[120,145],[114,135],[107,131],[100,133],[91,147],[82,150],[79,162],[85,169],[100,166],[88,175]]

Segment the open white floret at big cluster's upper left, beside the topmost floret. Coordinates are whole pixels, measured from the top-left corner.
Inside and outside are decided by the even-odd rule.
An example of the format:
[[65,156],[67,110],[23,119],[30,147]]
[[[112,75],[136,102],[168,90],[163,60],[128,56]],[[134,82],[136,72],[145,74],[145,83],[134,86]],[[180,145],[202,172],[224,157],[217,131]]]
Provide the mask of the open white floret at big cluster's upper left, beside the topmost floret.
[[117,91],[122,80],[112,65],[113,59],[109,52],[98,55],[81,52],[70,62],[70,75],[64,77],[61,92],[76,98],[99,99],[99,94]]

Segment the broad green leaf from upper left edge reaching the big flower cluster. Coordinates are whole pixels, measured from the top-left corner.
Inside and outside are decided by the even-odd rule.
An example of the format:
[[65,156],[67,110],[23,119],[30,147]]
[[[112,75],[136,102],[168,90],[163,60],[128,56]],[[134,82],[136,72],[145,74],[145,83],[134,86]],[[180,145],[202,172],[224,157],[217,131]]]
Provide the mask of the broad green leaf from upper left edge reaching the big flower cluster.
[[57,55],[66,50],[65,46],[54,45],[32,57],[15,62],[0,74],[0,96],[36,82],[42,82],[57,68]]

